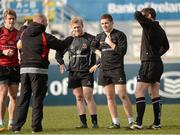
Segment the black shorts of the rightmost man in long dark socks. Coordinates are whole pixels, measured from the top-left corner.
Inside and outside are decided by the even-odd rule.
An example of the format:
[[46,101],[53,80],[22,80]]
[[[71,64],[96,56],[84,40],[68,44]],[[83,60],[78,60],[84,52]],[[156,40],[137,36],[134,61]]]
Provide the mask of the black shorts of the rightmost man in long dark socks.
[[146,83],[160,82],[162,73],[162,61],[142,61],[137,76],[137,81]]

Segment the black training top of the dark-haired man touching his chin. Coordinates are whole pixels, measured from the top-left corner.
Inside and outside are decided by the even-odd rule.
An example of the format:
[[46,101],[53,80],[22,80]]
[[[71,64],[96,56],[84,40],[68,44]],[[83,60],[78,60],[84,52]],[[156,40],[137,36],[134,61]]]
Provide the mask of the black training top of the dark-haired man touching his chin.
[[126,35],[116,29],[110,33],[111,41],[116,44],[112,49],[105,43],[106,34],[104,32],[98,34],[92,42],[93,52],[101,51],[101,65],[103,70],[111,70],[116,68],[124,69],[124,55],[127,51],[127,38]]

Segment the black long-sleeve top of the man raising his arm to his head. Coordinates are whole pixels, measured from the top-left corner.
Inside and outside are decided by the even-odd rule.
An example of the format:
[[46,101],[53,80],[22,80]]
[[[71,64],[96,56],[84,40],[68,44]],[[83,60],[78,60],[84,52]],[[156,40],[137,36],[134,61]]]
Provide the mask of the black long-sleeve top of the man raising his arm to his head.
[[136,11],[135,19],[143,28],[141,39],[141,61],[161,60],[161,56],[169,49],[165,31],[158,21],[152,21]]

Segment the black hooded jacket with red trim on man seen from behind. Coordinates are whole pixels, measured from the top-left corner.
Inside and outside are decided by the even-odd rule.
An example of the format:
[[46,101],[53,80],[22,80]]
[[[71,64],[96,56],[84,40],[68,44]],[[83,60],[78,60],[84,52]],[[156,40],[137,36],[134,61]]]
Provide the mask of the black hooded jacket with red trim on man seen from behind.
[[[44,25],[33,22],[24,30],[21,37],[21,68],[35,67],[47,69],[49,65],[49,51],[47,49],[54,49],[63,53],[65,45],[72,42],[71,37],[66,40],[58,40],[51,34],[46,33],[45,29]],[[45,43],[47,44],[46,50],[44,49],[45,45],[42,33],[44,33]],[[43,58],[42,55],[44,55]]]

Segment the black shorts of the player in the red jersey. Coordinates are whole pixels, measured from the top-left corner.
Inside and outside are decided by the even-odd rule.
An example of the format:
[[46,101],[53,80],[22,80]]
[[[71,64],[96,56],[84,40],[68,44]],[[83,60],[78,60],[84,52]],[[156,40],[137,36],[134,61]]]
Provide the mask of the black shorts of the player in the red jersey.
[[20,67],[0,66],[0,84],[19,84]]

